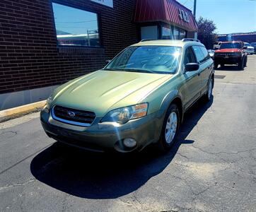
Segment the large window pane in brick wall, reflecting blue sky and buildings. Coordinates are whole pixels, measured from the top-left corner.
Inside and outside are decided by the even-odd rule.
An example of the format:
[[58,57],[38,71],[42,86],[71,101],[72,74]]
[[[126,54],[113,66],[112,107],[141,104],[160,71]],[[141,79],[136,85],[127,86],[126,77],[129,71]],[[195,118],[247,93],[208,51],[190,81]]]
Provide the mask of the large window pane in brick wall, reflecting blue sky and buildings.
[[55,3],[52,8],[58,45],[100,47],[96,13]]

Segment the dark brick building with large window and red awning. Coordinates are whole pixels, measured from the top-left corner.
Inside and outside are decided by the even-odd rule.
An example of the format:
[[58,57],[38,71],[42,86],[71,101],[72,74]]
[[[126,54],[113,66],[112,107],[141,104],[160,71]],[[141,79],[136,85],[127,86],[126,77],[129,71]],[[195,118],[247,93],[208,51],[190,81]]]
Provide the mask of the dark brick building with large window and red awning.
[[197,31],[175,0],[1,0],[0,25],[0,110],[44,100],[141,38]]

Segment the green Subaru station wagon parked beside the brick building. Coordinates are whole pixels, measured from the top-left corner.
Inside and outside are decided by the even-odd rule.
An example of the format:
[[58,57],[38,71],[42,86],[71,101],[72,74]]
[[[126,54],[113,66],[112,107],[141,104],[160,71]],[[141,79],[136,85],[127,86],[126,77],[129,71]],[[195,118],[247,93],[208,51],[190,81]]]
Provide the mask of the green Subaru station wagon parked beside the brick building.
[[142,40],[105,68],[59,86],[40,120],[48,136],[90,151],[168,151],[185,111],[212,98],[214,63],[199,40]]

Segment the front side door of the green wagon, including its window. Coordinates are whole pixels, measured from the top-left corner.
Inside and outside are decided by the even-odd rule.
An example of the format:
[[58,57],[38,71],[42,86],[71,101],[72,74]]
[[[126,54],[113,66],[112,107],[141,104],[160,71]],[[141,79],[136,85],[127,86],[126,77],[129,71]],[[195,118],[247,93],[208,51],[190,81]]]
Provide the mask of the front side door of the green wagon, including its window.
[[[197,59],[194,56],[194,52],[192,47],[187,47],[184,54],[183,64],[184,67],[188,63],[196,63]],[[192,103],[199,98],[199,88],[201,78],[199,76],[199,70],[197,71],[183,71],[182,78],[184,79],[184,83],[180,88],[180,92],[182,93],[183,102],[185,105],[185,110],[187,110]]]

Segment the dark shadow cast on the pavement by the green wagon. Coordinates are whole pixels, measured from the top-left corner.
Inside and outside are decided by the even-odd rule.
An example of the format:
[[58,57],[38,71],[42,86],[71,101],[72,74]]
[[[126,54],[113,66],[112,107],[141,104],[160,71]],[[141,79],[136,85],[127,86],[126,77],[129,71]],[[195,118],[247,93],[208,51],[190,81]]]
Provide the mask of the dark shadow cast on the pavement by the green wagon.
[[164,155],[156,153],[153,146],[134,155],[116,155],[62,148],[54,143],[33,158],[30,170],[40,182],[86,199],[114,199],[129,194],[163,172],[181,145],[194,143],[186,137],[211,104],[199,100],[185,114],[177,142]]

